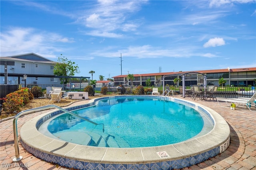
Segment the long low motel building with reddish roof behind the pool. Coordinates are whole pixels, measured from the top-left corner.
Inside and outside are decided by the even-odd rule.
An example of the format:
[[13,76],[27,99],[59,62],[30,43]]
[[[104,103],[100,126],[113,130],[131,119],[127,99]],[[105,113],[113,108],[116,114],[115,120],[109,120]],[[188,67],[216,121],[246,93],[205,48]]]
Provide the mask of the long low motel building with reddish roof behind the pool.
[[[200,71],[179,71],[166,73],[147,73],[134,74],[133,85],[146,86],[146,81],[150,79],[151,85],[162,86],[164,77],[164,86],[174,85],[174,79],[181,80],[179,85],[182,85],[182,75],[185,76],[185,86],[203,85],[204,77],[206,76],[206,85],[219,85],[218,81],[222,77],[226,80],[226,86],[256,86],[256,67],[252,68],[226,68],[214,70],[200,70]],[[128,75],[118,75],[114,78],[114,85],[129,84]]]

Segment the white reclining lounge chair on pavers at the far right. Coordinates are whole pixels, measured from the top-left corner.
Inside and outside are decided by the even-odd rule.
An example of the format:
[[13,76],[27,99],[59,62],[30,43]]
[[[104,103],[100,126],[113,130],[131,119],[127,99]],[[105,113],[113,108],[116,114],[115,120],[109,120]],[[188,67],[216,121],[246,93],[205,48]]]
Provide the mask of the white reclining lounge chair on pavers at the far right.
[[[254,93],[254,95],[252,95],[252,97],[250,99],[238,99],[238,98],[231,98],[231,99],[217,99],[218,104],[220,105],[219,101],[224,101],[226,102],[226,104],[228,106],[226,107],[230,107],[231,103],[235,103],[238,106],[242,105],[242,106],[246,106],[250,111],[256,111],[256,110],[251,110],[252,106],[256,107],[256,93]],[[225,107],[220,105],[221,107]]]

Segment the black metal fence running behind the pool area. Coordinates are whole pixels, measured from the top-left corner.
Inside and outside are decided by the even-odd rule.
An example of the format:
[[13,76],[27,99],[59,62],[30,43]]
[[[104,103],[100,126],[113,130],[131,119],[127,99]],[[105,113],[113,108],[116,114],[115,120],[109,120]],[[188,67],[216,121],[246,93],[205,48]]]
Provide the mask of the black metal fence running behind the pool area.
[[[18,88],[24,87],[22,85],[0,85],[1,89],[1,98],[5,97],[8,93],[16,91]],[[67,92],[81,92],[88,91],[90,96],[99,96],[99,95],[150,95],[152,92],[153,86],[130,86],[130,85],[88,85],[88,84],[66,84],[66,85],[51,85],[51,84],[36,84],[36,85],[27,85],[27,87],[32,91],[33,95],[36,98],[47,97],[50,94],[50,91],[54,87],[62,87],[63,96],[67,96]],[[163,87],[159,86],[158,92],[163,93]],[[174,92],[174,95],[179,95],[181,92],[179,87],[168,86],[168,89]],[[166,89],[166,87],[165,87]],[[190,89],[190,86],[187,86],[186,89]],[[238,97],[251,97],[255,93],[255,87],[218,87],[216,97],[226,97],[226,98],[238,98]]]

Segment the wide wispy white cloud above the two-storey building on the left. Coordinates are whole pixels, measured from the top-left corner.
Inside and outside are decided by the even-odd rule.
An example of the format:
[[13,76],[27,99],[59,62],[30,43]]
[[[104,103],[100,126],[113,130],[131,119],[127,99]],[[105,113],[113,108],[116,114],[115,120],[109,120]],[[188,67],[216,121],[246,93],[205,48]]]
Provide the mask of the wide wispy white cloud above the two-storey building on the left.
[[73,39],[56,33],[40,32],[33,28],[9,28],[1,32],[1,56],[21,53],[40,53],[51,56],[56,51],[62,51],[56,43],[70,43]]

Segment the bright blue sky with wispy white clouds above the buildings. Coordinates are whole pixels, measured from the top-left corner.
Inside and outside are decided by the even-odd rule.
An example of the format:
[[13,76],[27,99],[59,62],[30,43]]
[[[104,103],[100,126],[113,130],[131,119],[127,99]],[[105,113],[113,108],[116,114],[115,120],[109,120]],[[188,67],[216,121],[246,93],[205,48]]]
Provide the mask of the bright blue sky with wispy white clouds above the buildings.
[[[0,56],[60,54],[94,79],[256,67],[255,0],[0,1]],[[129,71],[129,72],[128,72]]]

